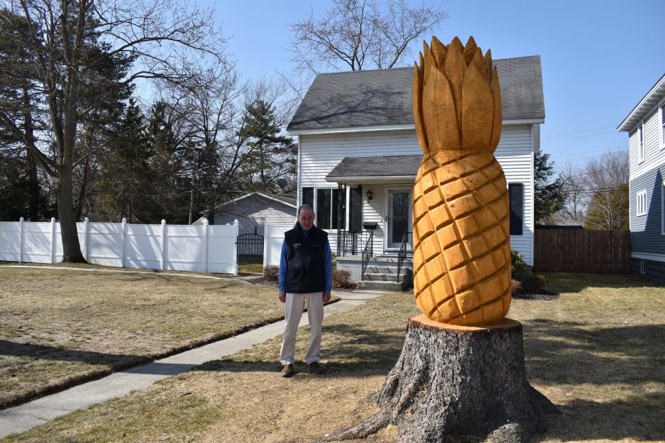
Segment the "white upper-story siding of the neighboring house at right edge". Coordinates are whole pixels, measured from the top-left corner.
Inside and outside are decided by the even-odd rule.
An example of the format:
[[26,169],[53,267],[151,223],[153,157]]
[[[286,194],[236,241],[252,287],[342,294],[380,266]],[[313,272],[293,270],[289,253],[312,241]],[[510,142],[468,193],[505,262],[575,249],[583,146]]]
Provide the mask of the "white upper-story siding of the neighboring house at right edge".
[[660,115],[658,108],[644,119],[644,161],[639,162],[639,125],[633,128],[628,138],[628,156],[630,164],[630,180],[635,180],[642,174],[653,170],[656,166],[665,163],[665,149],[660,147]]

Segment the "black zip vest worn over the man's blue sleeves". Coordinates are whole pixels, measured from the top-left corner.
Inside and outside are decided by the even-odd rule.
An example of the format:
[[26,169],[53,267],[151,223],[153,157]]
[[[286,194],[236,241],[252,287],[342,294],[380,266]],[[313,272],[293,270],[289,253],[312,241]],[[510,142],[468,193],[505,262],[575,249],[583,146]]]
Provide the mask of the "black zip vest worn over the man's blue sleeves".
[[312,226],[305,237],[296,226],[284,233],[286,240],[286,280],[284,289],[291,293],[322,292],[326,290],[323,273],[328,233]]

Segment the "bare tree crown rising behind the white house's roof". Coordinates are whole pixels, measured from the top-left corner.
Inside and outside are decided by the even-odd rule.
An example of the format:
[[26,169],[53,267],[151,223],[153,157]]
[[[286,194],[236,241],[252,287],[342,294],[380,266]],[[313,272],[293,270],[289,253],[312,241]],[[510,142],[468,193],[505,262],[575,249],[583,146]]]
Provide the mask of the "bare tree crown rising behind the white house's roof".
[[310,73],[398,66],[414,40],[447,18],[434,6],[411,8],[405,0],[334,0],[320,17],[290,25],[292,62]]

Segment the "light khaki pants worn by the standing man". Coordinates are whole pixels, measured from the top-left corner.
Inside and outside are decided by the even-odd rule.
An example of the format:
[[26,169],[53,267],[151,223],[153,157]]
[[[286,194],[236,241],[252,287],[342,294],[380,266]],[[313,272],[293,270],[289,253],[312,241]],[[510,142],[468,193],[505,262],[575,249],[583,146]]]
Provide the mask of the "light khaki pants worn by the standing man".
[[294,363],[296,354],[296,333],[303,308],[307,305],[307,317],[310,322],[310,345],[305,354],[308,365],[319,361],[321,352],[321,322],[323,321],[323,293],[286,293],[286,328],[282,340],[279,360],[283,365]]

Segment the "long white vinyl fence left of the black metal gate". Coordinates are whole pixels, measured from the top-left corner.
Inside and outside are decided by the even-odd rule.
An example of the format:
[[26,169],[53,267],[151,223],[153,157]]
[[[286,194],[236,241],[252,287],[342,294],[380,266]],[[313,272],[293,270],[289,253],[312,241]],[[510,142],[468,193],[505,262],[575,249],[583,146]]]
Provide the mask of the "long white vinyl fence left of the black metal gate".
[[[127,268],[238,273],[238,220],[235,224],[168,225],[77,224],[89,263]],[[0,260],[57,263],[62,260],[60,223],[0,221]],[[277,258],[279,260],[279,257]]]

